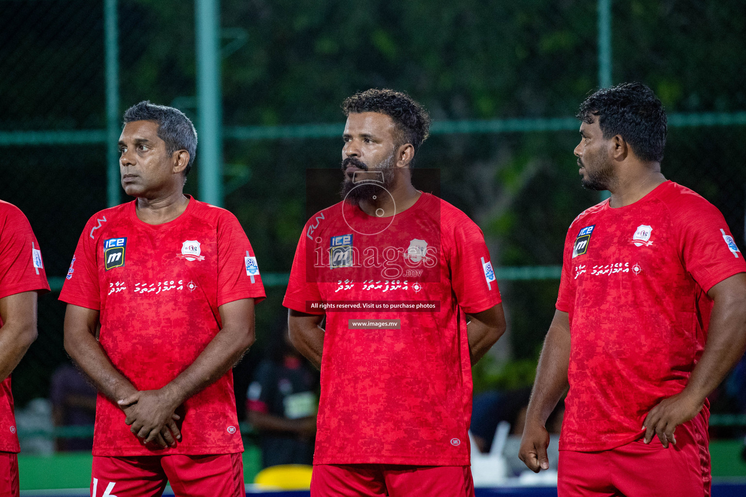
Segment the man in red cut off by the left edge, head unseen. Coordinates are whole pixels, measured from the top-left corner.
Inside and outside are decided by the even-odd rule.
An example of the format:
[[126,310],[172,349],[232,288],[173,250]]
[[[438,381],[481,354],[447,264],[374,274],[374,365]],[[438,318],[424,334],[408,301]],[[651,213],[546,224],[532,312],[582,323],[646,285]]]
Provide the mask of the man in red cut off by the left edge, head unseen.
[[37,297],[49,291],[31,224],[0,200],[0,496],[18,497],[18,452],[10,373],[37,339]]

